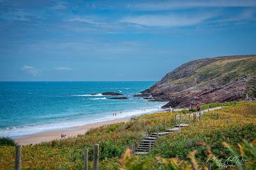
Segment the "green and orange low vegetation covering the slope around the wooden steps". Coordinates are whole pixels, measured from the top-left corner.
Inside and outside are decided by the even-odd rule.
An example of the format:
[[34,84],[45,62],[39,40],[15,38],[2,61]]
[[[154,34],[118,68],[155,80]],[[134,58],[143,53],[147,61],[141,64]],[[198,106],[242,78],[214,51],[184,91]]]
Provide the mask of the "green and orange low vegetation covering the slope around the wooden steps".
[[[91,129],[76,138],[22,146],[22,169],[83,169],[84,148],[88,148],[89,169],[92,169],[94,143],[100,145],[100,169],[184,169],[192,166],[200,169],[207,166],[210,155],[218,156],[218,159],[223,161],[234,153],[246,156],[248,161],[244,164],[248,164],[248,169],[255,167],[253,140],[256,139],[256,103],[212,103],[202,108],[207,109],[208,106],[227,107],[205,112],[202,122],[193,123],[180,132],[160,137],[148,155],[130,157],[130,152],[126,149],[131,146],[132,141],[140,142],[145,136],[146,125],[148,133],[156,132],[157,127],[159,131],[164,131],[164,123],[167,127],[173,127],[174,115],[186,111],[145,114],[132,118],[127,123]],[[217,114],[219,119],[216,118]],[[238,143],[241,144],[237,146]],[[239,147],[241,153],[234,146]],[[14,157],[14,146],[0,146],[0,169],[13,169]],[[218,167],[216,162],[211,163],[213,167]]]

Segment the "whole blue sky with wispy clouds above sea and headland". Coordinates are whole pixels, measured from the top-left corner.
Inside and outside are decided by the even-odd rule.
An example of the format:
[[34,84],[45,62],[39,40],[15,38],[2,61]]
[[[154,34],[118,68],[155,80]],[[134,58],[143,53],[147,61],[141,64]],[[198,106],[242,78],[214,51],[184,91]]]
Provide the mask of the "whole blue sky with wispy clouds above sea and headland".
[[0,0],[0,81],[159,80],[256,53],[256,1]]

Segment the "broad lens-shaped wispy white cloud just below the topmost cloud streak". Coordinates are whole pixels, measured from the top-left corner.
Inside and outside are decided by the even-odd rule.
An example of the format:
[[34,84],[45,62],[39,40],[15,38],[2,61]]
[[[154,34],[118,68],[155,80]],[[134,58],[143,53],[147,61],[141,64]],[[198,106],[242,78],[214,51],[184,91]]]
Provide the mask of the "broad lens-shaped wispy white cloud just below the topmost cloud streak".
[[156,27],[177,27],[196,25],[215,16],[216,14],[214,13],[200,15],[141,15],[138,17],[125,17],[121,22]]

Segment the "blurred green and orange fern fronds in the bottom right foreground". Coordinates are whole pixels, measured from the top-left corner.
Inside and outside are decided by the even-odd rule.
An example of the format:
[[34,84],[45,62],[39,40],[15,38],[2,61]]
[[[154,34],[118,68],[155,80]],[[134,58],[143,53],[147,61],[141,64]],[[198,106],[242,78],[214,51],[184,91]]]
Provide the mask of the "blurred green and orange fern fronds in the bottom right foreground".
[[[202,143],[205,145],[205,143]],[[256,140],[248,143],[243,141],[236,145],[230,145],[223,142],[222,145],[227,148],[228,152],[232,154],[230,159],[221,161],[218,157],[212,154],[211,148],[207,146],[206,152],[207,164],[202,165],[200,160],[196,158],[197,150],[188,153],[188,160],[180,160],[177,157],[165,159],[160,156],[147,157],[142,161],[136,160],[136,157],[132,157],[131,150],[127,149],[122,158],[120,159],[120,169],[209,169],[211,164],[212,169],[255,169],[256,167]],[[228,163],[227,163],[228,160]],[[209,163],[210,162],[210,163]]]

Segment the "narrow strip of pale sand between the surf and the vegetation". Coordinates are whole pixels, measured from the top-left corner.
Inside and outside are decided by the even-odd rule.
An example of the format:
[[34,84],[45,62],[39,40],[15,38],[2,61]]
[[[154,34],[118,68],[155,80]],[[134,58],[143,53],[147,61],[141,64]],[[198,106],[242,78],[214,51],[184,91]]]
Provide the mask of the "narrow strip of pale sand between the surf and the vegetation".
[[65,138],[76,137],[79,134],[85,134],[90,129],[100,127],[102,125],[116,124],[116,123],[120,123],[120,122],[129,122],[129,120],[133,116],[140,116],[143,114],[152,114],[152,113],[163,112],[163,111],[166,111],[166,110],[160,109],[158,111],[141,113],[138,115],[132,115],[129,117],[124,117],[124,118],[116,118],[114,120],[107,120],[107,121],[103,121],[103,122],[95,122],[92,124],[74,126],[74,127],[68,128],[68,129],[58,129],[58,130],[52,130],[52,131],[47,131],[47,132],[38,132],[35,134],[29,134],[28,136],[15,138],[14,140],[19,145],[30,145],[30,144],[35,145],[35,144],[40,144],[43,142],[49,142],[54,139],[61,139],[61,134],[67,135]]

